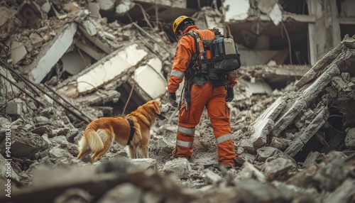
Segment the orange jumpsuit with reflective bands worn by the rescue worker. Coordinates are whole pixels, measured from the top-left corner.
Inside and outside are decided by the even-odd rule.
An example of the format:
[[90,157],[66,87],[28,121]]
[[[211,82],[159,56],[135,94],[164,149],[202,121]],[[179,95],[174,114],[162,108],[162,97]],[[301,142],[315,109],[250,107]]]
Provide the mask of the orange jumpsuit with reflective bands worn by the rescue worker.
[[[214,38],[213,30],[200,30],[196,26],[189,26],[185,29],[184,34],[189,31],[199,33],[202,40]],[[189,66],[192,54],[195,53],[195,48],[195,38],[190,35],[184,35],[178,41],[172,71],[169,76],[168,92],[176,92],[179,88],[180,82],[185,77],[185,70]],[[229,72],[225,78],[229,81],[229,87],[234,87],[236,84],[236,71]],[[229,106],[224,101],[226,97],[224,85],[215,87],[211,82],[202,85],[192,84],[190,95],[191,102],[188,106],[188,111],[185,110],[184,102],[182,102],[179,109],[178,133],[173,157],[191,158],[195,126],[199,124],[202,111],[206,107],[217,141],[219,163],[233,166],[236,154],[231,135]]]

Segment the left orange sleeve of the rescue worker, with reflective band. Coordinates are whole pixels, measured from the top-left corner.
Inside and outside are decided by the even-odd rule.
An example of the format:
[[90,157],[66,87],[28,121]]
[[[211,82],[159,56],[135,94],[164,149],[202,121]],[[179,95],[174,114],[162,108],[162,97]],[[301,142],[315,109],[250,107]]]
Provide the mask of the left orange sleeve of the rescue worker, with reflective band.
[[185,35],[179,40],[169,76],[168,92],[173,93],[179,89],[179,85],[185,76],[185,70],[189,67],[194,46],[195,41],[191,36]]

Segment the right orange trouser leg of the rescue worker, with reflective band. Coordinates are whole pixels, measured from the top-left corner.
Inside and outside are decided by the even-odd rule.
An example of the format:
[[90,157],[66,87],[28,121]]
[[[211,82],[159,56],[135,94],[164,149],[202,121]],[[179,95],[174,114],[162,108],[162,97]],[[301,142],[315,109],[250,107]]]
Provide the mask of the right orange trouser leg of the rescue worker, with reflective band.
[[229,106],[224,101],[224,87],[214,87],[212,98],[207,102],[207,112],[217,141],[218,160],[222,165],[234,165],[236,153],[231,136]]

